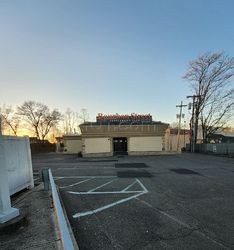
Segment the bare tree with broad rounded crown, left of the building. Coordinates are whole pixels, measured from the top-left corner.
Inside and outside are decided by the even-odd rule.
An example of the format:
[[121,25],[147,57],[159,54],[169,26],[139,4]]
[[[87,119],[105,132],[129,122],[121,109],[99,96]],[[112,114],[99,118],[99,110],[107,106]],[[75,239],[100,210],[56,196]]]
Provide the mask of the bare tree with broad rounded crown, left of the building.
[[51,128],[61,119],[61,114],[57,110],[50,112],[48,106],[35,101],[24,102],[18,107],[18,114],[25,118],[40,140],[44,140]]

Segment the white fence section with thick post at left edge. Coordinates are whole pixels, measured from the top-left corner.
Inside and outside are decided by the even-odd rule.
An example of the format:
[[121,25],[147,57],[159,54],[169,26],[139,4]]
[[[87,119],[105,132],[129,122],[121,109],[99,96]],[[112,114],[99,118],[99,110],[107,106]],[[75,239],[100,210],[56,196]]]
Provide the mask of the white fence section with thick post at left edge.
[[34,187],[28,137],[0,136],[0,223],[19,215],[10,195]]

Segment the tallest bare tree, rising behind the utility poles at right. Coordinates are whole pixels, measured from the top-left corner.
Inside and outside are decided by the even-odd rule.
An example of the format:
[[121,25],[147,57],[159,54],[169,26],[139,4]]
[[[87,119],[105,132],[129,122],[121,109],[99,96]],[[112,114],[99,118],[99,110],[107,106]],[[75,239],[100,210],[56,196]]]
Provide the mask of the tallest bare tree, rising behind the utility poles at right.
[[234,58],[221,53],[206,53],[189,64],[184,79],[196,96],[194,105],[195,142],[201,123],[203,140],[225,126],[233,115],[234,89],[230,80],[234,75]]

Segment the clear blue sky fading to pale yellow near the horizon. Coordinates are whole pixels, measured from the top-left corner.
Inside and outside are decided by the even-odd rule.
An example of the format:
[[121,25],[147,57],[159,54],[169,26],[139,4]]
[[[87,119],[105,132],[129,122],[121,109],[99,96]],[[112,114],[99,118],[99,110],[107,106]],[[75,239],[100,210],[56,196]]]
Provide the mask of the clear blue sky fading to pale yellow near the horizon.
[[175,122],[193,94],[189,61],[234,56],[233,10],[232,0],[0,0],[0,105]]

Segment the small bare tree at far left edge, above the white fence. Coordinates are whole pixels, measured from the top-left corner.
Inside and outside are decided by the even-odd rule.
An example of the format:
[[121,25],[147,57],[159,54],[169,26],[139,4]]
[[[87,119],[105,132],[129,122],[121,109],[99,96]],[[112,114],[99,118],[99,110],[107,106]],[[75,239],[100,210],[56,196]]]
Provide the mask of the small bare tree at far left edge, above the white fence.
[[0,115],[2,125],[5,129],[9,129],[15,136],[17,136],[18,128],[20,125],[20,118],[11,106],[3,105],[0,108]]

